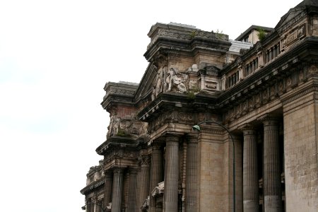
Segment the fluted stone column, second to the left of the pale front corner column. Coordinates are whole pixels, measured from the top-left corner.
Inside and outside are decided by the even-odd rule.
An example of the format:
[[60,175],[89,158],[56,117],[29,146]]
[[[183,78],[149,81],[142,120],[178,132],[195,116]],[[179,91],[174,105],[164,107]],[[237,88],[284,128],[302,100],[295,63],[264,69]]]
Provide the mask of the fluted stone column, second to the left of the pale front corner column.
[[137,211],[140,211],[143,202],[149,195],[149,179],[150,179],[150,158],[149,155],[141,155],[140,158],[139,179],[139,203],[137,204]]

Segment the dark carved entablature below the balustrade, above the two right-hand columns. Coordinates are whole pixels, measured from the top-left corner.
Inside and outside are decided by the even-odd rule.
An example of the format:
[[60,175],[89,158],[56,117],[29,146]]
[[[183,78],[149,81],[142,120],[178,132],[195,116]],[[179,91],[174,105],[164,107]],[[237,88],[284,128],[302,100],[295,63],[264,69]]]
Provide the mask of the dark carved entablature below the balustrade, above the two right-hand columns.
[[234,119],[233,114],[254,110],[304,83],[310,76],[308,70],[314,69],[310,67],[317,64],[318,54],[314,53],[318,50],[317,44],[317,37],[307,37],[293,51],[282,54],[245,81],[222,93],[218,107],[223,108],[227,117]]

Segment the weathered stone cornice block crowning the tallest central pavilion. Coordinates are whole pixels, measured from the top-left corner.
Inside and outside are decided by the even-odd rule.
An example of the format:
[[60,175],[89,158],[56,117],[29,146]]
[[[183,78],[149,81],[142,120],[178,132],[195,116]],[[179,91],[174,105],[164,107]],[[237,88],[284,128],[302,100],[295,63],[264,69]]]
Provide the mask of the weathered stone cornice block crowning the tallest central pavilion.
[[151,27],[148,36],[151,37],[151,43],[143,56],[150,62],[156,60],[158,52],[163,55],[177,53],[194,57],[201,53],[220,52],[225,54],[231,45],[228,35],[171,23],[156,23]]

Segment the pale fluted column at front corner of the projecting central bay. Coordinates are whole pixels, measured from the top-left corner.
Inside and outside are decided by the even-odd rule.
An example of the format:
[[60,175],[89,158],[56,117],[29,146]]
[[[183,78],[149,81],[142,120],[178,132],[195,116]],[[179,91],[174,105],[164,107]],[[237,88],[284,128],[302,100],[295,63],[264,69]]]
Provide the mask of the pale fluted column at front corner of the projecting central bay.
[[164,211],[178,211],[179,136],[167,135],[165,141]]

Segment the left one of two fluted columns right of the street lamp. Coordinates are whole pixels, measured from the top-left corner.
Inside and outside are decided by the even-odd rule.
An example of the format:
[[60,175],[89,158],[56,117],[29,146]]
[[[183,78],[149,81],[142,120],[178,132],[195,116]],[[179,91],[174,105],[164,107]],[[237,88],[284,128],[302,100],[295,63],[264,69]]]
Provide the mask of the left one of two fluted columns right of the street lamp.
[[259,177],[257,170],[257,133],[251,126],[243,130],[243,208],[245,212],[259,211]]

